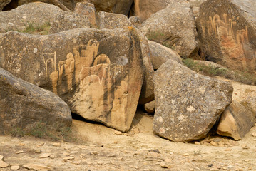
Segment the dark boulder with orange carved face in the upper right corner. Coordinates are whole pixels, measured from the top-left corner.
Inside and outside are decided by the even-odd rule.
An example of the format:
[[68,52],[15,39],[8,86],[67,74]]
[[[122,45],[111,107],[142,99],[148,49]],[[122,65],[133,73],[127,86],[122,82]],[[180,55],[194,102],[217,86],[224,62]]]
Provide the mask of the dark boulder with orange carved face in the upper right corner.
[[256,1],[208,0],[197,19],[200,45],[210,61],[256,71]]

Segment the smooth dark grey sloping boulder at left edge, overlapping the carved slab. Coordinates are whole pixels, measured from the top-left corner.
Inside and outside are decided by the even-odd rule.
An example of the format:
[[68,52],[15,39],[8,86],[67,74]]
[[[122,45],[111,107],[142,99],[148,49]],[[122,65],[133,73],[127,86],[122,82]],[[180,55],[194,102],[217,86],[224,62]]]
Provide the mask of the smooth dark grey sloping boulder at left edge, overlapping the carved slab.
[[16,78],[0,68],[0,134],[26,130],[36,123],[69,127],[68,105],[58,95]]

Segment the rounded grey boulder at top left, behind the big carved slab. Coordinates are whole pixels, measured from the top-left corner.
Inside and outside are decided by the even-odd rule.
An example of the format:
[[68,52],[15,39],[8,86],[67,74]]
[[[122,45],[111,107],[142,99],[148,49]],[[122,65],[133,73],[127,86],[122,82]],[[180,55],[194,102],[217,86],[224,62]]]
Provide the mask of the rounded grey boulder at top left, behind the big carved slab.
[[45,3],[31,3],[19,6],[11,11],[0,13],[0,33],[6,31],[23,31],[28,24],[45,24],[52,22],[56,14],[61,12],[57,6]]

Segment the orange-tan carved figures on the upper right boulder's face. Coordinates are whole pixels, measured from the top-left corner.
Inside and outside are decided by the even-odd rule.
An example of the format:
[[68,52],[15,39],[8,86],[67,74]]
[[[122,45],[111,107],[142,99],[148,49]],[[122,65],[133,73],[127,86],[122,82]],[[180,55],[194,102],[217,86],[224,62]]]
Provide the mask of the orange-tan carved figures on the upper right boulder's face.
[[[236,19],[239,18],[237,17]],[[215,37],[219,38],[222,47],[225,48],[224,51],[229,53],[231,58],[244,58],[245,61],[256,58],[256,51],[253,50],[249,43],[247,26],[243,29],[238,29],[237,22],[233,21],[231,16],[228,17],[227,14],[223,14],[221,18],[215,14],[213,17],[209,16],[206,24],[201,21],[201,26],[204,35],[207,29],[208,36],[214,34]],[[233,52],[228,49],[230,46],[233,47]]]

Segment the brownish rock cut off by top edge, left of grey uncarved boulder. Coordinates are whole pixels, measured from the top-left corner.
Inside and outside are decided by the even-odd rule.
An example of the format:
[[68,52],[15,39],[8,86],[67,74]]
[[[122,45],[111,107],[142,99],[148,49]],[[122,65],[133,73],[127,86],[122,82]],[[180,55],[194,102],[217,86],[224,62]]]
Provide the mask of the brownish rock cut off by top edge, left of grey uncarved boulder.
[[139,16],[143,22],[152,14],[165,9],[171,0],[134,0],[133,16]]

